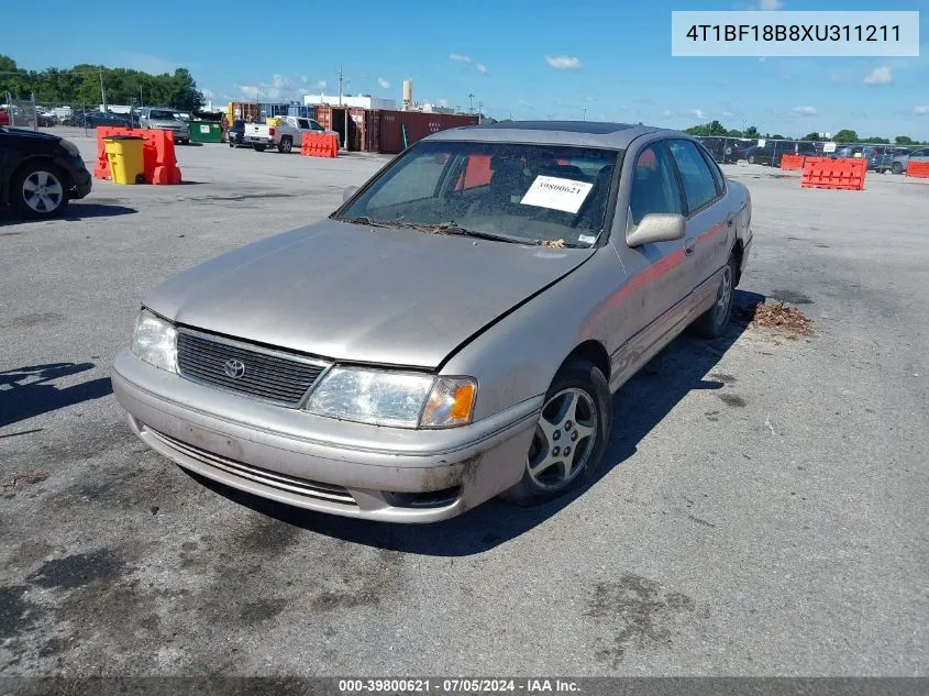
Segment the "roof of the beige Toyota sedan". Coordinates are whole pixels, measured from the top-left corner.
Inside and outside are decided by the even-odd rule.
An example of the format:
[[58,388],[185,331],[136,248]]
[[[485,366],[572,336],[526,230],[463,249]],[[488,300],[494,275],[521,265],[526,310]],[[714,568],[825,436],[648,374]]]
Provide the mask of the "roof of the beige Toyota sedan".
[[429,141],[478,141],[496,143],[531,143],[576,145],[624,150],[650,133],[667,133],[675,137],[690,136],[679,131],[665,131],[651,125],[606,123],[600,121],[507,121],[485,125],[465,125],[433,133]]

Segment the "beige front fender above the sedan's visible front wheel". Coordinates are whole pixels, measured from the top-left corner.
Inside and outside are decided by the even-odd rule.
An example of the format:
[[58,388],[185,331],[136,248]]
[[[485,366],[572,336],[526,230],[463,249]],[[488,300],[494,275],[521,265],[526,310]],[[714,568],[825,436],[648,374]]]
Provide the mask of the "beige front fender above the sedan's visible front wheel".
[[460,349],[441,373],[477,378],[475,420],[543,395],[579,344],[596,341],[610,354],[617,333],[609,325],[610,314],[600,310],[624,280],[612,246],[600,247],[574,272]]

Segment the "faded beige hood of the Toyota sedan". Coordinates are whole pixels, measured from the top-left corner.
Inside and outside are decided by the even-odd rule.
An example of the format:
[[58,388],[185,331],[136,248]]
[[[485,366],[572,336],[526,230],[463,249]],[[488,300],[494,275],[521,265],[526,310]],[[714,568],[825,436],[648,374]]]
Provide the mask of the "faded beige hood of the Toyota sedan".
[[144,303],[232,338],[338,361],[434,368],[594,251],[323,220],[196,266]]

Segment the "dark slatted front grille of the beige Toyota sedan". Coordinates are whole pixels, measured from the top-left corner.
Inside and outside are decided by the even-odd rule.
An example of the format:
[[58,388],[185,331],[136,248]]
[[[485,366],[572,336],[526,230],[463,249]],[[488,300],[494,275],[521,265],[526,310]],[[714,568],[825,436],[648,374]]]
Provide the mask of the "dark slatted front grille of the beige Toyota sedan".
[[[226,363],[244,366],[240,376],[226,373]],[[181,330],[177,334],[177,366],[189,379],[247,394],[294,408],[319,378],[325,363],[268,351]],[[233,375],[235,371],[233,371]]]

